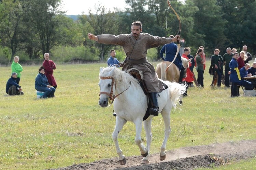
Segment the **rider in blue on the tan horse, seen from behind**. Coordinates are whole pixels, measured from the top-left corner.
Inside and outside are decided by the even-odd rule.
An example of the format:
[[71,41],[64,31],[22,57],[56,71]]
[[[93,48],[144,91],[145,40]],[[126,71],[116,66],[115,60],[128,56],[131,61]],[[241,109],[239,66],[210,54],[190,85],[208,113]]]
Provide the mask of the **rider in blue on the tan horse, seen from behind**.
[[[174,36],[170,35],[169,38],[174,38]],[[172,62],[173,59],[175,58],[177,50],[178,50],[178,46],[174,42],[165,44],[160,51],[160,57],[163,59],[163,61]],[[165,58],[163,57],[163,53],[165,53]],[[175,64],[180,70],[179,82],[182,83],[182,79],[185,74],[185,68],[182,65],[180,52],[178,53],[177,58],[175,59],[173,64]]]

